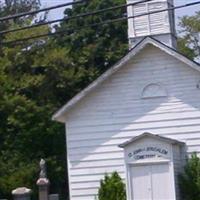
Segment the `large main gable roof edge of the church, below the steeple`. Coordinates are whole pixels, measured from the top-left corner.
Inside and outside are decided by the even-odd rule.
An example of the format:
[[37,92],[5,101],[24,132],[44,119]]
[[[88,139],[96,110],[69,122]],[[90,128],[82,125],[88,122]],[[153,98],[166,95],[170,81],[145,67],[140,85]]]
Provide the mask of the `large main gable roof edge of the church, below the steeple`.
[[178,51],[173,48],[168,47],[167,45],[161,43],[160,41],[152,38],[152,37],[145,37],[138,45],[136,45],[133,49],[131,49],[126,56],[124,56],[120,61],[118,61],[113,67],[108,69],[105,73],[103,73],[99,78],[97,78],[93,83],[91,83],[88,87],[78,93],[75,97],[73,97],[67,104],[65,104],[61,109],[59,109],[52,117],[53,120],[65,123],[65,114],[74,106],[76,105],[81,99],[87,96],[91,91],[97,88],[102,82],[107,80],[112,74],[122,68],[132,57],[137,55],[144,47],[148,44],[151,44],[160,50],[166,52],[167,54],[175,57],[176,59],[180,60],[181,62],[187,64],[191,68],[200,72],[200,65],[188,59]]

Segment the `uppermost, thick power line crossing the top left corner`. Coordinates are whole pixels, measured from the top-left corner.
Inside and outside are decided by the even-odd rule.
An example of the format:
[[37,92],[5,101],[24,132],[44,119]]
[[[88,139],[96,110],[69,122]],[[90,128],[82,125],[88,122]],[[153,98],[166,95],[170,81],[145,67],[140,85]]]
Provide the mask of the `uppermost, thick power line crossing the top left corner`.
[[16,18],[24,17],[24,16],[27,16],[27,15],[34,15],[34,14],[37,14],[37,13],[40,13],[40,12],[54,10],[54,9],[62,8],[62,7],[65,7],[65,6],[80,4],[80,3],[84,3],[85,1],[86,0],[73,1],[73,2],[63,3],[63,4],[59,4],[59,5],[56,5],[56,6],[51,6],[51,7],[47,7],[47,8],[43,8],[43,9],[39,9],[39,10],[34,10],[34,11],[30,11],[30,12],[23,12],[23,13],[19,13],[19,14],[15,14],[15,15],[1,17],[0,22],[10,20],[10,19],[16,19]]

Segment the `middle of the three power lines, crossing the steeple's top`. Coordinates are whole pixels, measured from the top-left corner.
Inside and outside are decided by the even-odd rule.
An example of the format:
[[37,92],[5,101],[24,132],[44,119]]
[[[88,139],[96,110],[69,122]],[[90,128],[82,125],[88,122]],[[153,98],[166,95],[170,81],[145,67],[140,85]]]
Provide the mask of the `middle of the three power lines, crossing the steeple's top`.
[[150,1],[152,1],[152,0],[143,0],[143,1],[130,3],[130,4],[122,4],[122,5],[119,5],[119,6],[113,6],[113,7],[110,7],[110,8],[96,10],[96,11],[93,11],[93,12],[88,12],[88,13],[84,13],[84,14],[80,14],[80,15],[76,15],[76,16],[72,16],[72,17],[66,17],[66,18],[62,18],[62,19],[57,19],[57,20],[52,20],[52,21],[48,21],[48,22],[42,22],[42,23],[34,24],[34,25],[31,25],[31,26],[24,26],[24,27],[21,27],[21,28],[0,31],[0,35],[4,35],[4,34],[7,34],[7,33],[13,33],[13,32],[16,32],[16,31],[22,31],[22,30],[26,30],[26,29],[31,29],[31,28],[36,28],[36,27],[44,26],[44,25],[48,25],[48,24],[54,24],[54,23],[61,22],[61,21],[68,21],[68,20],[72,20],[72,19],[76,19],[76,18],[87,17],[87,16],[91,16],[91,15],[97,15],[97,14],[101,14],[103,12],[108,12],[108,11],[111,11],[111,10],[117,10],[117,9],[120,9],[120,8],[125,8],[125,7],[128,7],[128,6],[134,6],[134,5],[137,5],[137,4],[140,4],[140,3],[146,3],[146,2],[150,2]]

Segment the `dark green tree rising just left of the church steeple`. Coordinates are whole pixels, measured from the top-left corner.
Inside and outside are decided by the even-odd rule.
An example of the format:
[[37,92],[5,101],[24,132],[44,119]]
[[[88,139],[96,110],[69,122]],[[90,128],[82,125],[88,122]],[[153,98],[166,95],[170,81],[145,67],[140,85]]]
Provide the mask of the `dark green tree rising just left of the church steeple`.
[[[76,16],[124,3],[125,0],[86,1],[84,5],[75,5],[66,9],[65,15]],[[62,22],[56,30],[65,30],[67,33],[56,37],[56,42],[59,46],[68,47],[74,65],[88,70],[96,69],[102,73],[127,52],[127,21],[92,27],[88,25],[123,17],[124,13],[125,9],[118,9]]]

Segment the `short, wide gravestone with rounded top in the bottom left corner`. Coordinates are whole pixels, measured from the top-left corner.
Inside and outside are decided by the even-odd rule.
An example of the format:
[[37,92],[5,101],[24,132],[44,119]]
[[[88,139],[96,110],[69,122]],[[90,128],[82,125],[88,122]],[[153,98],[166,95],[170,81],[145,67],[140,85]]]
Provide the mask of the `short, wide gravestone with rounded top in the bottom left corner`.
[[14,200],[30,200],[31,199],[31,189],[21,187],[12,191]]

